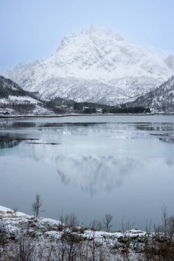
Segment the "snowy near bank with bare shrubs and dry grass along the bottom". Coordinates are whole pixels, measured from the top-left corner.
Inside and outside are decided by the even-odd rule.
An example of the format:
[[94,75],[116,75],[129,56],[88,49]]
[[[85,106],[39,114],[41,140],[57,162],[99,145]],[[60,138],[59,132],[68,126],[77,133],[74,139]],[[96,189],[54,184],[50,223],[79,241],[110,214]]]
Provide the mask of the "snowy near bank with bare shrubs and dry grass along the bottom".
[[65,225],[0,206],[0,260],[163,260],[144,254],[153,234],[97,231],[95,224]]

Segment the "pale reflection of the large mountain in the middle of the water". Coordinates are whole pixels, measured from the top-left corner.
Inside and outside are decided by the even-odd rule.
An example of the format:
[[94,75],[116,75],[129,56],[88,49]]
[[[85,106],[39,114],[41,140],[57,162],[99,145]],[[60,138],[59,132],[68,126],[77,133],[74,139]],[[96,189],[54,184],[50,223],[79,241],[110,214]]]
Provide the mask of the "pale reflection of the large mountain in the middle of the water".
[[98,190],[110,192],[122,186],[124,179],[142,166],[136,159],[119,159],[111,155],[59,155],[55,161],[65,185],[80,187],[91,194]]

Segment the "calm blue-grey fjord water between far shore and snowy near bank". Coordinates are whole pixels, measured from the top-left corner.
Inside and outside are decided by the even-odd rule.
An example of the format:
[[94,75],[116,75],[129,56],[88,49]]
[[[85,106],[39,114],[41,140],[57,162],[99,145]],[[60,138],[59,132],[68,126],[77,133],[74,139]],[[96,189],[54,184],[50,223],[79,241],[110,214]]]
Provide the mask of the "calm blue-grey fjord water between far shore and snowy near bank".
[[174,117],[89,115],[0,120],[0,205],[80,223],[113,215],[145,229],[174,214]]

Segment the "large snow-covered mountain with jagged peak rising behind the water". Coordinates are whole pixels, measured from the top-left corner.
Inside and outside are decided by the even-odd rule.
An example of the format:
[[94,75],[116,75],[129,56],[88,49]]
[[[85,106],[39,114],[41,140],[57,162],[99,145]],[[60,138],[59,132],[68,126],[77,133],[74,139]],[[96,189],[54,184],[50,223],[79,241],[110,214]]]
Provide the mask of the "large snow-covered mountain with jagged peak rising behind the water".
[[174,74],[174,56],[90,27],[66,36],[50,58],[18,65],[7,76],[42,98],[118,104],[135,100]]

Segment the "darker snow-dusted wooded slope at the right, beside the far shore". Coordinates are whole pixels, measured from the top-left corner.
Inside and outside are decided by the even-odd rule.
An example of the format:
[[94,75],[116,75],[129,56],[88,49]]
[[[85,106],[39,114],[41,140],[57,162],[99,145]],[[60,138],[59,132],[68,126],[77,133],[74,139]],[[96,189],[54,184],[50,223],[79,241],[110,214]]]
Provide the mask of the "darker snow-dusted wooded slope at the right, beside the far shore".
[[174,113],[174,77],[127,105],[149,107],[154,113]]

